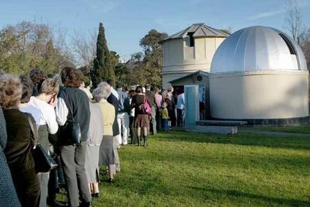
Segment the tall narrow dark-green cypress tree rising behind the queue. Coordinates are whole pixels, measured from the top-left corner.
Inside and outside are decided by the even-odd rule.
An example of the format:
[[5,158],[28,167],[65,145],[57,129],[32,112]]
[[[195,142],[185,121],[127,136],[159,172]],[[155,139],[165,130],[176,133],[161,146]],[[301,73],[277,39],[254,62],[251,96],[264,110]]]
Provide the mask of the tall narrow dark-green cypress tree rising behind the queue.
[[99,24],[99,34],[96,46],[94,67],[90,72],[94,87],[107,79],[112,79],[115,83],[114,65],[111,63],[110,51],[107,48],[107,41],[105,40],[105,28],[103,28],[102,23]]

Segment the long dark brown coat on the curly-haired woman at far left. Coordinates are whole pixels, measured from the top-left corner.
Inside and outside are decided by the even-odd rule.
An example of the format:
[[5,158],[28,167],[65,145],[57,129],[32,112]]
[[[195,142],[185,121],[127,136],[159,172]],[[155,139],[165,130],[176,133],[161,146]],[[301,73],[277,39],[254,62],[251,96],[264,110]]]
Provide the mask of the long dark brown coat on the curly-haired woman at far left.
[[22,113],[19,109],[3,109],[6,118],[8,142],[4,154],[12,173],[19,201],[22,206],[39,206],[39,177],[34,171],[34,160],[31,149],[31,128],[28,117],[34,122],[30,113]]

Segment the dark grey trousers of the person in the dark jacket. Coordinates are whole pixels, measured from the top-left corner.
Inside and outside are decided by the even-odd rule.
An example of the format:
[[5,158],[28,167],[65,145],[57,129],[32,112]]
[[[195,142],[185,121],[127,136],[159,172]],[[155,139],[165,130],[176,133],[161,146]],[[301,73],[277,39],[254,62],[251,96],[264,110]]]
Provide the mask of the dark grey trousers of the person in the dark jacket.
[[92,201],[85,172],[86,142],[61,146],[60,151],[68,190],[69,206],[79,206],[79,195],[81,195],[83,203]]

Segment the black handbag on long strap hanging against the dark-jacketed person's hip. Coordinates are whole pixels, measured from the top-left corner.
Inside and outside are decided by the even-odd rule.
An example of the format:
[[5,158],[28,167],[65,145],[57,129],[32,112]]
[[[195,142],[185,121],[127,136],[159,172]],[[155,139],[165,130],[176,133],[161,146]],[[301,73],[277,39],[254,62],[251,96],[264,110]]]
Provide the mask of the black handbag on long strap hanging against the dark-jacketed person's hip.
[[59,127],[59,142],[62,145],[74,145],[81,143],[81,127],[79,122],[74,121],[73,111],[68,100],[67,92],[65,92],[65,98],[67,99],[67,105],[71,115],[71,119],[68,119],[65,124]]

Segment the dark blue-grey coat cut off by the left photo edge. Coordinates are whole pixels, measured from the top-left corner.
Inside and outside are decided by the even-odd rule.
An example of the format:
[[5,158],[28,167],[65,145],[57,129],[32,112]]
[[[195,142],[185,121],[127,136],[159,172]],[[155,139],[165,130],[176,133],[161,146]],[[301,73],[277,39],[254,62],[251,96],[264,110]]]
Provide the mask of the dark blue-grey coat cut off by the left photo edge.
[[12,181],[10,168],[6,162],[6,155],[3,153],[3,149],[6,147],[7,135],[6,135],[6,120],[3,117],[3,111],[0,107],[0,201],[1,206],[21,206],[15,186]]

